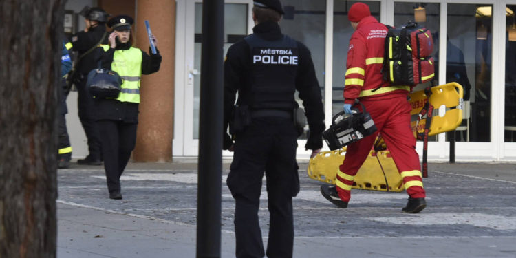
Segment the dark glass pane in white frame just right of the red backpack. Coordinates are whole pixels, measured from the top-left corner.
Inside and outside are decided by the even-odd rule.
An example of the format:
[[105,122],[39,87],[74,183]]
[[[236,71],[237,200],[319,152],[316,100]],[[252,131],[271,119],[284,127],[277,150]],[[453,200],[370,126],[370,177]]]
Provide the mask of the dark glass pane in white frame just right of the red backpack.
[[464,88],[464,121],[455,139],[491,140],[492,5],[448,3],[447,78]]

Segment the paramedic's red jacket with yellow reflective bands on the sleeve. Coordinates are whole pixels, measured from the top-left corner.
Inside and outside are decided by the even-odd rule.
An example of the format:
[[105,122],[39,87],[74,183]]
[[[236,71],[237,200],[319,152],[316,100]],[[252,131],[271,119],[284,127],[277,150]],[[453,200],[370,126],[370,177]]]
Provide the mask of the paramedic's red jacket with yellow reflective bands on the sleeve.
[[344,103],[353,104],[356,98],[380,100],[406,96],[411,91],[410,86],[391,86],[383,80],[386,35],[387,27],[372,16],[365,17],[358,23],[347,49]]

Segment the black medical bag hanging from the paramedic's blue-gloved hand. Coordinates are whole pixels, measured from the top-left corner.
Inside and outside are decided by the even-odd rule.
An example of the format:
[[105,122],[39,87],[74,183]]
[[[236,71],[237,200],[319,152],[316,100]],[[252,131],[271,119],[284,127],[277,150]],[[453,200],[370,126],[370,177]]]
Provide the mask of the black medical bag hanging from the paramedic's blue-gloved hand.
[[357,101],[353,107],[357,104],[362,106],[363,112],[352,109],[356,113],[350,115],[341,111],[333,117],[330,128],[323,132],[323,138],[332,151],[361,140],[376,131],[376,125],[369,113],[365,111],[364,105]]

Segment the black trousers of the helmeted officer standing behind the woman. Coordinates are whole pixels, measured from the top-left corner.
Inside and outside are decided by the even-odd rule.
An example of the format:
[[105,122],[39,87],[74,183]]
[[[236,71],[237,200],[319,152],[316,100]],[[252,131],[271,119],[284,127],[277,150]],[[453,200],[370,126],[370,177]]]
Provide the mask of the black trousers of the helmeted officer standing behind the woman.
[[94,99],[86,87],[86,79],[76,83],[78,98],[78,116],[87,138],[89,156],[100,160],[100,135],[95,119]]

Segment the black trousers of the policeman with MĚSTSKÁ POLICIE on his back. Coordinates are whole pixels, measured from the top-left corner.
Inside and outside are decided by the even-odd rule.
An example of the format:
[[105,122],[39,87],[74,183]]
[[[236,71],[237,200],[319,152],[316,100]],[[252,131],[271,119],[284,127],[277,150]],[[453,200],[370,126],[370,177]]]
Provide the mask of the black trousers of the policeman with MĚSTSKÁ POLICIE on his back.
[[237,133],[227,184],[235,198],[237,257],[264,257],[258,211],[266,174],[270,213],[267,257],[292,257],[292,197],[299,192],[297,131],[286,118],[253,118]]

